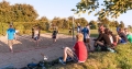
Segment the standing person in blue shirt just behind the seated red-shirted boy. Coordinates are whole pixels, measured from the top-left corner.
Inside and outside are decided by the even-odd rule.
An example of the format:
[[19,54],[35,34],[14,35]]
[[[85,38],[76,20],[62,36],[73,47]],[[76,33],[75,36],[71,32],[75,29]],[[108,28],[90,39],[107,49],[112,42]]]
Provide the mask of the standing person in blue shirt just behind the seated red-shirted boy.
[[86,45],[88,45],[89,50],[91,50],[91,48],[90,48],[90,27],[89,27],[89,24],[87,24],[82,28],[81,33],[84,34],[84,42],[86,43]]

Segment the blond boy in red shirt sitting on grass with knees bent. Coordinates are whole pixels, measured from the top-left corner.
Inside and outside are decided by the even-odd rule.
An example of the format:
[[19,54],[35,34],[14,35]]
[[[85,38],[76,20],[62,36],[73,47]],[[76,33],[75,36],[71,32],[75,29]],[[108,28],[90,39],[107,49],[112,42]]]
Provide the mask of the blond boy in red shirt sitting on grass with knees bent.
[[66,65],[66,59],[69,56],[76,62],[85,62],[87,59],[87,48],[84,43],[84,35],[78,33],[76,35],[77,42],[73,49],[69,47],[64,48],[64,57],[63,59],[59,58],[59,62]]

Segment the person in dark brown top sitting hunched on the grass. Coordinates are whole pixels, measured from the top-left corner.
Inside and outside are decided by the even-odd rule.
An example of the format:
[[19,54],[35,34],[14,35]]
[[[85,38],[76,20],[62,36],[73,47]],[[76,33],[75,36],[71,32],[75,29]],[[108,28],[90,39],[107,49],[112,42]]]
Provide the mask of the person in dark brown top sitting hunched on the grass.
[[109,28],[106,28],[101,33],[102,34],[97,38],[95,45],[96,46],[98,45],[101,48],[101,50],[103,50],[103,51],[110,50],[110,51],[114,53],[114,50],[112,49],[113,37],[112,37]]

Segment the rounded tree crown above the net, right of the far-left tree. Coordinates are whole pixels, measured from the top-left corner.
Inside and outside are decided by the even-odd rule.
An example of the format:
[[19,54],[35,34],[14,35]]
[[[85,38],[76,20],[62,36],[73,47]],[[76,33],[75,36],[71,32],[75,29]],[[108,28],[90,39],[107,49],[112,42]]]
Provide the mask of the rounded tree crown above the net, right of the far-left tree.
[[12,12],[15,13],[15,22],[33,22],[38,16],[34,8],[30,4],[16,3],[12,8]]

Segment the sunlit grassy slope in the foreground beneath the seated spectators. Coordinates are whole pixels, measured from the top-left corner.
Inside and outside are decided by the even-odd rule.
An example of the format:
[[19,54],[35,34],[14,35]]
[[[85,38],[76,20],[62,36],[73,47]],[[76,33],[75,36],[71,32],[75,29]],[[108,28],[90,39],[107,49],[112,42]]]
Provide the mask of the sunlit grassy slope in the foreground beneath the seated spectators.
[[84,64],[58,65],[48,69],[132,69],[132,44],[118,45],[117,53],[89,53]]

